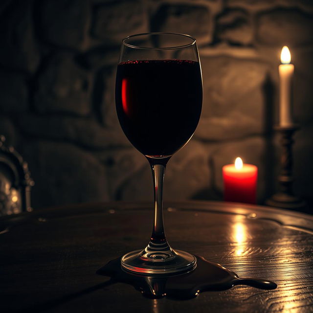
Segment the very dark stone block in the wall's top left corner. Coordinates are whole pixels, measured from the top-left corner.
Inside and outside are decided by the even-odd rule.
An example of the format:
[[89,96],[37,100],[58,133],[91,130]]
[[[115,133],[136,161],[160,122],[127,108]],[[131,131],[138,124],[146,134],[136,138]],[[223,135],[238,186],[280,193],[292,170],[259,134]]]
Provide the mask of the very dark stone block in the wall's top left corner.
[[16,0],[14,5],[5,2],[8,1],[1,1],[0,65],[34,72],[39,65],[40,54],[34,34],[33,1]]

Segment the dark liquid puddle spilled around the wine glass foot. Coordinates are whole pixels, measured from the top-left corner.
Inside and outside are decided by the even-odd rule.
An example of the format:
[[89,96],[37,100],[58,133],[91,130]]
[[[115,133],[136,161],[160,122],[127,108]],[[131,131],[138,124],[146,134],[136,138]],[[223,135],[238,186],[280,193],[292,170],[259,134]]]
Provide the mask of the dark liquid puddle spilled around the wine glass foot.
[[143,276],[126,272],[121,268],[120,258],[110,261],[97,274],[109,276],[115,282],[132,285],[148,298],[168,297],[173,299],[192,299],[203,291],[222,291],[235,285],[247,285],[260,289],[275,289],[277,285],[266,279],[240,278],[236,273],[212,263],[200,256],[197,267],[178,275]]

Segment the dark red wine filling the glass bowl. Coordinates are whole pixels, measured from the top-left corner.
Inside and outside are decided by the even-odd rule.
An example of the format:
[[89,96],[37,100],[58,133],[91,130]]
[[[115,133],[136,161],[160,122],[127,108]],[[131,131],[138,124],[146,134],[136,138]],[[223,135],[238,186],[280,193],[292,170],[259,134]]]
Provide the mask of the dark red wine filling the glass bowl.
[[202,107],[199,62],[128,61],[117,66],[116,111],[145,156],[171,156],[191,138]]

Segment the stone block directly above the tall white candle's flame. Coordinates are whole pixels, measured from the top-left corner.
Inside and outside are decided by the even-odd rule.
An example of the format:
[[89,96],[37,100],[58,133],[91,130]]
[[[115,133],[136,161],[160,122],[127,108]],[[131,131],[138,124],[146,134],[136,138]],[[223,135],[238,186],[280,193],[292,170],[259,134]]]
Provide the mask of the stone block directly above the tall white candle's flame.
[[264,45],[313,43],[313,16],[296,9],[275,9],[257,17],[256,36]]

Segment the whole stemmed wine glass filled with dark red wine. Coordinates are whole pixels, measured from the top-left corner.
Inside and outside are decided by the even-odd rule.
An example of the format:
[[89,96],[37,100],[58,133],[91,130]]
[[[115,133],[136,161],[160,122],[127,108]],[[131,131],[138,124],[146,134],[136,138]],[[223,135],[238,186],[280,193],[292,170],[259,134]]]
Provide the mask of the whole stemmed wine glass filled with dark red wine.
[[189,141],[201,115],[202,77],[196,40],[175,33],[123,39],[115,102],[125,135],[151,165],[155,191],[150,242],[143,250],[125,254],[121,266],[149,275],[192,270],[195,256],[172,249],[165,238],[162,189],[168,160]]

